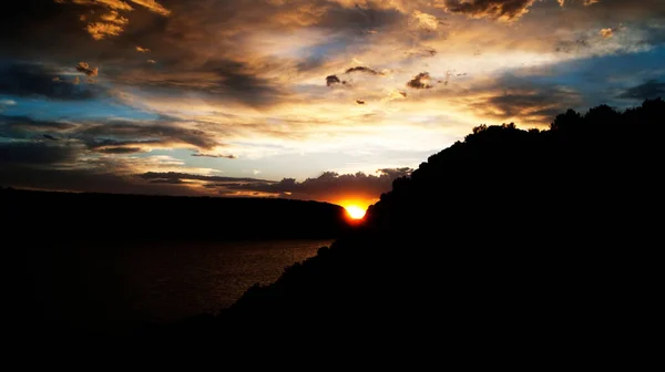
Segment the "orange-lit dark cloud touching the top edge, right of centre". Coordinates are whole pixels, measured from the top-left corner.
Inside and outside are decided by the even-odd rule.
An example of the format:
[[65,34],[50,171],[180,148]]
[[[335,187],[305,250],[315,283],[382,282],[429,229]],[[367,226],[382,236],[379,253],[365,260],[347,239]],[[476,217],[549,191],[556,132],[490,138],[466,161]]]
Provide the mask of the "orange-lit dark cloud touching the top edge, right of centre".
[[512,20],[522,17],[535,0],[446,0],[446,10],[472,18]]

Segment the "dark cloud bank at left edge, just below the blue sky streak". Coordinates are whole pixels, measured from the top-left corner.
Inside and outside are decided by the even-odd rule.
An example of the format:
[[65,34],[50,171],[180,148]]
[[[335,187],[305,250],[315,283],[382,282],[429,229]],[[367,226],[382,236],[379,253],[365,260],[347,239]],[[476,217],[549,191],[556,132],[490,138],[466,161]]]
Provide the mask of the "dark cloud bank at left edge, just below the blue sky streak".
[[47,166],[71,163],[76,149],[71,146],[50,145],[43,142],[0,143],[0,165]]

